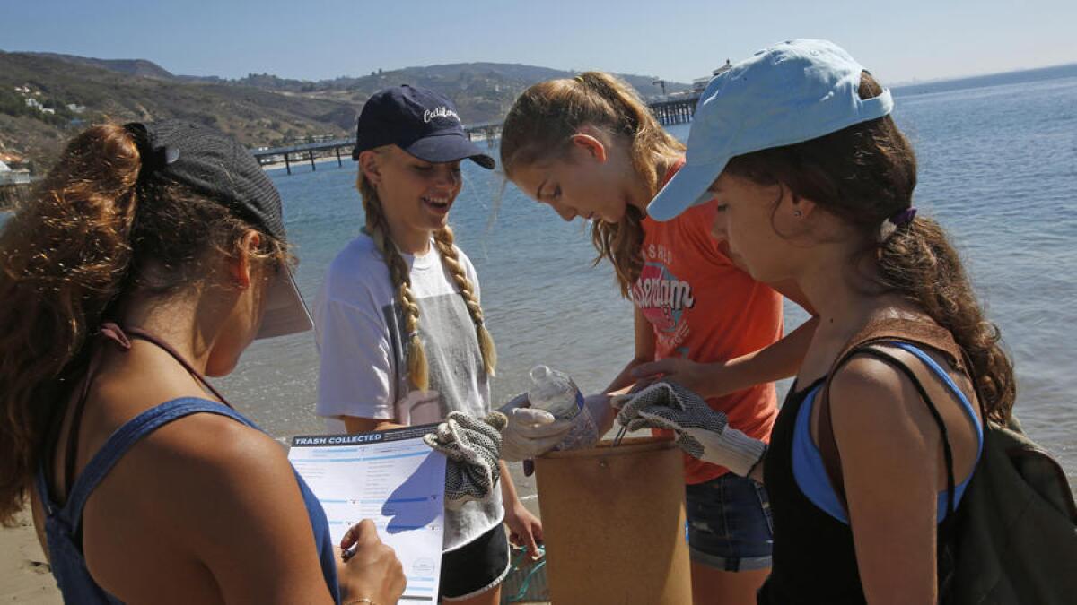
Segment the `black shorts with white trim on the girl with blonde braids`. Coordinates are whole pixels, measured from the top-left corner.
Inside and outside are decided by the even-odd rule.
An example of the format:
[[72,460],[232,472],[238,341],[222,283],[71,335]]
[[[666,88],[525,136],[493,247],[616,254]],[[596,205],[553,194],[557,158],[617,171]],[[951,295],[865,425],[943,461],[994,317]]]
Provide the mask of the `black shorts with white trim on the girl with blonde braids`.
[[442,554],[440,599],[458,601],[481,594],[504,581],[508,574],[508,536],[505,525],[453,551]]

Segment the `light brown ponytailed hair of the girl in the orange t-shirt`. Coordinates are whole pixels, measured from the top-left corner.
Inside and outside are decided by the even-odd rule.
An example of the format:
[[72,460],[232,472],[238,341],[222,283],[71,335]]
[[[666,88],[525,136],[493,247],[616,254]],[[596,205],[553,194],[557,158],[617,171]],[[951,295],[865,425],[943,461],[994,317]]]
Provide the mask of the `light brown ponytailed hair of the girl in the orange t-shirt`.
[[[662,174],[657,160],[684,153],[684,145],[662,128],[639,94],[625,81],[601,71],[588,71],[561,80],[541,82],[523,92],[505,116],[501,135],[501,165],[512,179],[513,170],[535,161],[562,158],[579,127],[590,125],[629,141],[637,175],[654,197]],[[591,242],[598,250],[595,263],[609,258],[617,285],[626,298],[643,270],[643,217],[628,207],[617,223],[595,221]]]

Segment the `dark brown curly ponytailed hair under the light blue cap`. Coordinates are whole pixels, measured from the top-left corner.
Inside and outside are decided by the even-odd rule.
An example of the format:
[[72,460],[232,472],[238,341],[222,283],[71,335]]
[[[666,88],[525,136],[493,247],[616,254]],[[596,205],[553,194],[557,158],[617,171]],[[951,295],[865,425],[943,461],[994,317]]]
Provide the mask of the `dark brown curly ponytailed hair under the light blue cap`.
[[[863,72],[858,92],[870,99],[882,87]],[[891,116],[737,156],[725,170],[761,185],[782,183],[853,225],[865,242],[863,254],[878,267],[875,285],[903,295],[950,330],[971,361],[988,417],[1009,419],[1017,393],[1013,366],[946,231],[922,216],[882,230],[889,217],[912,206],[917,186],[915,154]]]

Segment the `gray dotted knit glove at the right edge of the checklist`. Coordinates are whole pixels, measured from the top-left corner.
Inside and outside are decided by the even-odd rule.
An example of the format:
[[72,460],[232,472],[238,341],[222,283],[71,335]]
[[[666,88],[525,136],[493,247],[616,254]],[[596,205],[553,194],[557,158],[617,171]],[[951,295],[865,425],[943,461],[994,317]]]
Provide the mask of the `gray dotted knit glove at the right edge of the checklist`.
[[490,412],[482,419],[453,411],[422,440],[445,454],[445,505],[460,508],[465,502],[486,500],[501,478],[498,459],[505,414]]

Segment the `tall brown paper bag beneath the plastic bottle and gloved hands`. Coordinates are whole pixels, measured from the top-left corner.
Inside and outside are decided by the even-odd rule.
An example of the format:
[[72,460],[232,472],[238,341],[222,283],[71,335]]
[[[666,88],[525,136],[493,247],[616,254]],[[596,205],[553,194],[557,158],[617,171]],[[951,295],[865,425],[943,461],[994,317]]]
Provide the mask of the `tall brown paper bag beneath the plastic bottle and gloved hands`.
[[535,460],[554,605],[691,603],[684,463],[669,438]]

